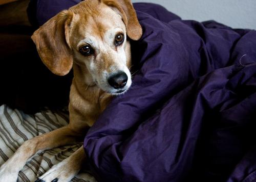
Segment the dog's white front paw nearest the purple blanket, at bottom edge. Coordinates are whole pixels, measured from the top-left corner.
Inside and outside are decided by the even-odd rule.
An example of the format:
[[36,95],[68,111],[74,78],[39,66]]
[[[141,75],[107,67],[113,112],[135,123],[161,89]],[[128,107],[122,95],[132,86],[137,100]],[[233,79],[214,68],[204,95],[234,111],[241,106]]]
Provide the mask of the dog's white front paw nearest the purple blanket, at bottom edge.
[[70,159],[66,158],[59,164],[54,165],[44,175],[40,176],[35,182],[68,182],[79,172],[79,168],[73,166],[74,163],[70,163]]

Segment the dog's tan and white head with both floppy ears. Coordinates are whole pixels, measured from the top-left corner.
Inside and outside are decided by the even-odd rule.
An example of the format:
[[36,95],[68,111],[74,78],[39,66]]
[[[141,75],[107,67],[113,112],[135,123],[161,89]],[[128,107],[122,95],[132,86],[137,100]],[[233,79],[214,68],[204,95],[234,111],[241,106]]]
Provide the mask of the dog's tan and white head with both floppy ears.
[[141,34],[130,0],[86,0],[51,18],[32,39],[53,73],[66,75],[74,64],[85,84],[119,94],[132,83],[126,38]]

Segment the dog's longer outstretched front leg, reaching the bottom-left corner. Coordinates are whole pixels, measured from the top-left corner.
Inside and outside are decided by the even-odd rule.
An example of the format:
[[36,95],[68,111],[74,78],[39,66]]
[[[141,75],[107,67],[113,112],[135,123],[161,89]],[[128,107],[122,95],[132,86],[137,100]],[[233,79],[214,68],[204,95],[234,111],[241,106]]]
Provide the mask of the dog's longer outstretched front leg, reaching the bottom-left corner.
[[62,145],[76,143],[76,137],[69,126],[25,141],[0,168],[0,182],[16,182],[18,172],[35,153]]

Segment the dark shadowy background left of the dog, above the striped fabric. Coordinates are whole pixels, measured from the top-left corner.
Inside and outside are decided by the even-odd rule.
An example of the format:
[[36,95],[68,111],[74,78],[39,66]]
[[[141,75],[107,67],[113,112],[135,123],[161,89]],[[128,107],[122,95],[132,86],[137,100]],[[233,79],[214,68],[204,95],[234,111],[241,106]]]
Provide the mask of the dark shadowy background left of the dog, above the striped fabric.
[[41,62],[30,38],[29,0],[0,6],[0,105],[25,112],[68,105],[72,73],[57,76]]

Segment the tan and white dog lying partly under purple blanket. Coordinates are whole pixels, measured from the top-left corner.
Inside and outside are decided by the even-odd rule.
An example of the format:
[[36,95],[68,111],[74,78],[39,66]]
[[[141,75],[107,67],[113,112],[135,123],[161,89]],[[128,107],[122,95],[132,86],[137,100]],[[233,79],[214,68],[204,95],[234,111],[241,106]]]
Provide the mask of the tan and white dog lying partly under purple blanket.
[[[141,36],[142,28],[130,0],[82,1],[34,32],[32,39],[39,56],[54,74],[66,75],[73,67],[70,123],[25,141],[1,166],[1,182],[16,181],[19,170],[34,154],[77,143],[84,137],[113,95],[130,88],[129,38],[137,41]],[[80,147],[36,182],[70,181],[85,160]]]

